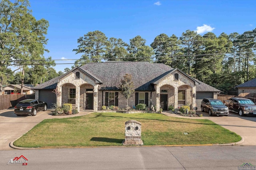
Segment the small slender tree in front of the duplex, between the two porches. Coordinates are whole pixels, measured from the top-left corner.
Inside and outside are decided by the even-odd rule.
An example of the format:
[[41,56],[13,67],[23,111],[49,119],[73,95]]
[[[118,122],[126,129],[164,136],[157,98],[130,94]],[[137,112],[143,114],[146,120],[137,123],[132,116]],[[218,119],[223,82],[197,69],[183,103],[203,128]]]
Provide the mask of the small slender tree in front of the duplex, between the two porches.
[[128,99],[132,97],[132,93],[134,93],[134,85],[132,81],[131,74],[125,74],[124,79],[121,79],[120,89],[122,90],[122,94],[126,98],[126,109],[128,110]]

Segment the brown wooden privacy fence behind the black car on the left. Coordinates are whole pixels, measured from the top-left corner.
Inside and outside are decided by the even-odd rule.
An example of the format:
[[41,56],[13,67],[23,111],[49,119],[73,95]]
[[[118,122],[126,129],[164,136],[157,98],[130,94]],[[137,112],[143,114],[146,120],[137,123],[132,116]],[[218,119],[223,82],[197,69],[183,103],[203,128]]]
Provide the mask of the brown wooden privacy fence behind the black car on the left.
[[14,107],[19,101],[34,98],[35,95],[0,95],[0,111]]

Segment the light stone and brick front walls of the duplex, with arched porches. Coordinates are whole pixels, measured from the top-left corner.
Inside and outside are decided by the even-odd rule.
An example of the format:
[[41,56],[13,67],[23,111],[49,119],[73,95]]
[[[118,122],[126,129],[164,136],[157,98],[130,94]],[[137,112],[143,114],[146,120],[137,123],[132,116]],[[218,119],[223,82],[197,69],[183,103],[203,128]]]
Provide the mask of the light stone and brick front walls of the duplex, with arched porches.
[[[178,73],[178,79],[175,79],[174,75]],[[79,75],[79,77],[77,77]],[[176,75],[177,76],[177,75]],[[175,79],[175,80],[174,80]],[[102,106],[105,105],[106,92],[118,92],[118,107],[120,109],[126,108],[126,98],[122,95],[121,91],[107,91],[98,90],[99,84],[96,81],[82,72],[80,69],[74,69],[68,75],[62,77],[57,85],[60,95],[57,97],[57,105],[60,106],[64,103],[68,103],[69,88],[76,89],[76,104],[74,108],[79,110],[86,109],[86,94],[93,93],[93,110],[102,110]],[[167,107],[172,105],[174,108],[178,108],[178,90],[185,90],[185,104],[190,107],[196,106],[195,98],[193,94],[196,93],[195,82],[187,75],[184,75],[180,71],[174,71],[171,74],[166,75],[154,84],[155,91],[136,91],[142,93],[148,93],[148,107],[150,105],[156,106],[156,111],[160,110],[160,95],[168,95]],[[86,89],[93,89],[92,91],[86,91]],[[161,90],[167,90],[167,92],[161,92]],[[36,92],[37,97],[37,92]],[[135,93],[128,99],[128,106],[132,109],[135,107]]]

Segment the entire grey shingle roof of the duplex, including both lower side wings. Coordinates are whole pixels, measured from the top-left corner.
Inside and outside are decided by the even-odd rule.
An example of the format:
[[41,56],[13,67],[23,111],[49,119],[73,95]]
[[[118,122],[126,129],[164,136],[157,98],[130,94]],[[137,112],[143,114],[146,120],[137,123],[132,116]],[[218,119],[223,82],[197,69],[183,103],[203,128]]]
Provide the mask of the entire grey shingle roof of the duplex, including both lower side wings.
[[[86,73],[92,74],[103,83],[99,86],[100,90],[118,90],[120,81],[124,78],[124,75],[126,73],[132,74],[132,80],[136,91],[154,91],[154,86],[151,83],[154,83],[159,77],[164,77],[174,70],[172,67],[162,63],[149,63],[146,61],[88,63],[79,68],[86,71]],[[55,89],[58,80],[66,74],[51,79],[33,89]],[[196,91],[220,92],[220,90],[201,81],[196,79],[194,79],[194,81],[200,83],[196,85]]]

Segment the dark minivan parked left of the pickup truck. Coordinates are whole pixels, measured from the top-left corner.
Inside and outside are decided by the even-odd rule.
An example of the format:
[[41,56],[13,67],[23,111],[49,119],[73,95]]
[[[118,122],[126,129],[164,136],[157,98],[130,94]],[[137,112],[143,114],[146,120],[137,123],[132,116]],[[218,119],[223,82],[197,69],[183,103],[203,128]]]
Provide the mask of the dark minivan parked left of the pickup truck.
[[229,115],[229,110],[222,101],[219,99],[208,99],[205,98],[201,102],[201,111],[208,112],[210,116],[212,115]]

